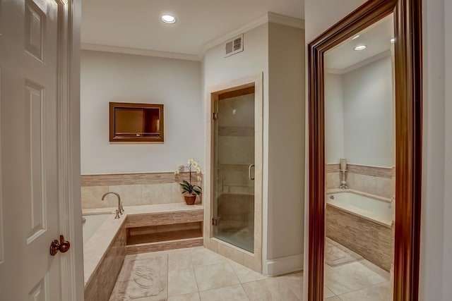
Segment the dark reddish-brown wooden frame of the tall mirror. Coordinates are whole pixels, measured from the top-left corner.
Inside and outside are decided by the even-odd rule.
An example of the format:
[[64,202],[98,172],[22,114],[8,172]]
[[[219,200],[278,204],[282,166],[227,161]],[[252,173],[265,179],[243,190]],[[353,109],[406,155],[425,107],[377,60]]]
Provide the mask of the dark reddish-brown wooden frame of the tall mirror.
[[326,51],[394,13],[396,220],[393,300],[417,300],[422,174],[421,1],[369,0],[314,39],[309,60],[308,300],[323,300],[325,238],[324,66]]

